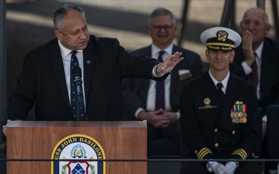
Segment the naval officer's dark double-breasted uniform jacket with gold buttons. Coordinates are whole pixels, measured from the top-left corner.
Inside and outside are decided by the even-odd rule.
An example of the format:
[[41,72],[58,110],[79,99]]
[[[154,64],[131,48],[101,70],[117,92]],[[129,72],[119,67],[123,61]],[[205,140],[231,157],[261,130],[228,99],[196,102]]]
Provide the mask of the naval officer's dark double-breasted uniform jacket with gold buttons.
[[[209,108],[204,108],[206,98],[210,99]],[[247,104],[246,123],[232,123],[230,114],[236,101]],[[242,150],[241,155],[232,155],[237,149],[251,155],[259,141],[257,105],[254,85],[232,74],[224,102],[209,73],[185,83],[180,102],[183,143],[199,159],[245,157]]]

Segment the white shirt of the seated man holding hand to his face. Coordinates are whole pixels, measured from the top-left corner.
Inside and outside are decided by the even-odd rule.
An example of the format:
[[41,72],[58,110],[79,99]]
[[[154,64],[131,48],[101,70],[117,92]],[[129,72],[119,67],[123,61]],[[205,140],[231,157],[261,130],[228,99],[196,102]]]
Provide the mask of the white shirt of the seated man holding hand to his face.
[[[256,61],[256,64],[258,66],[258,85],[257,85],[257,89],[256,89],[258,99],[261,99],[261,86],[260,86],[260,83],[261,83],[261,70],[262,70],[262,67],[261,67],[262,66],[262,48],[263,48],[263,42],[262,42],[262,44],[256,50],[254,50],[254,52],[256,53],[255,61]],[[242,65],[243,70],[244,70],[246,75],[248,75],[248,74],[250,74],[252,72],[252,68],[247,64],[246,61],[243,61],[241,63],[241,65]],[[262,117],[262,121],[267,122],[266,115],[264,115]]]

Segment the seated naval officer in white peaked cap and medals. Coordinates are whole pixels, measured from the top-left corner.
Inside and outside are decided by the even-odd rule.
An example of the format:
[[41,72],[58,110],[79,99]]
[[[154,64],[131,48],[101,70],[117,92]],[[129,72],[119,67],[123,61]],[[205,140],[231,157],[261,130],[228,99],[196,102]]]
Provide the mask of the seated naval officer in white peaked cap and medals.
[[[201,33],[209,71],[185,83],[180,101],[188,159],[253,158],[259,141],[255,86],[229,71],[240,35],[224,27]],[[183,162],[181,173],[259,173],[257,162]]]

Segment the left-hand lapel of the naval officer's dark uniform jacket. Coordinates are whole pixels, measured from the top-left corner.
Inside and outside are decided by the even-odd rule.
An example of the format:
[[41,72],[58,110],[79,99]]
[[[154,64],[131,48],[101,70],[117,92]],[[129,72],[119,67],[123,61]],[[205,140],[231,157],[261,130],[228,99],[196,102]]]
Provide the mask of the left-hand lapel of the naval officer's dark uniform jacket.
[[203,92],[205,97],[210,99],[210,105],[217,106],[217,109],[221,112],[222,99],[208,72],[204,75]]

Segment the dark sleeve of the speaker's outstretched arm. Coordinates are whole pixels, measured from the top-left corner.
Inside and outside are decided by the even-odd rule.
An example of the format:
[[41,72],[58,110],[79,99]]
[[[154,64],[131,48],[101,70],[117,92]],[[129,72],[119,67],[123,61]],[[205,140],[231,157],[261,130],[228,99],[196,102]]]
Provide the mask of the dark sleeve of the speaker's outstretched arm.
[[125,49],[119,45],[117,39],[113,40],[113,51],[115,52],[116,65],[122,78],[149,78],[155,81],[163,81],[168,76],[168,74],[165,74],[162,77],[152,77],[154,66],[160,62],[156,59],[144,57],[142,55],[133,55],[125,51]]

